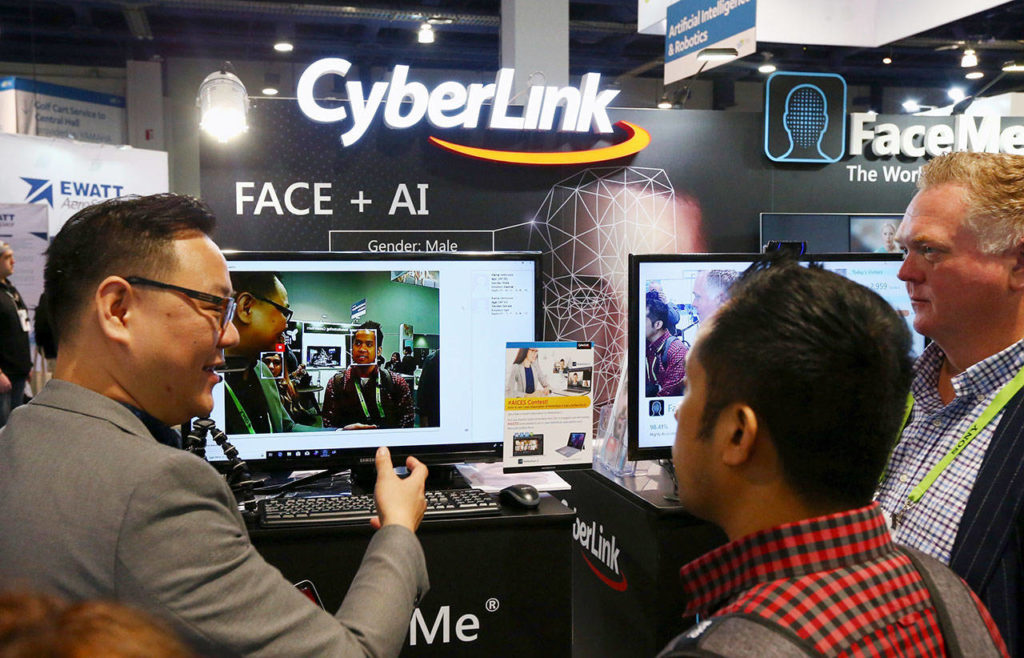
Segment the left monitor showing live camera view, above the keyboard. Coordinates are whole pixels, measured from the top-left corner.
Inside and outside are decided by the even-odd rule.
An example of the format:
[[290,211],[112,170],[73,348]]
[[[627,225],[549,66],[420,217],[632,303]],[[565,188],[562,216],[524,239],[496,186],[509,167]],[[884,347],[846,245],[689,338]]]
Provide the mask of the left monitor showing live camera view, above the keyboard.
[[372,464],[381,445],[396,460],[501,458],[505,345],[537,340],[539,254],[225,258],[240,343],[211,418],[241,458],[339,468]]

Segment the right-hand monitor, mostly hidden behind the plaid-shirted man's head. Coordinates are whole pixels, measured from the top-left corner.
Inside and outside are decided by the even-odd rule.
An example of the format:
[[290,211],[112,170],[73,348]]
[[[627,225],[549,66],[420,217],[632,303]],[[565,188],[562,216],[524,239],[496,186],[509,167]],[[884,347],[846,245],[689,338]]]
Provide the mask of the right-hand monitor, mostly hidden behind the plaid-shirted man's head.
[[[681,386],[662,390],[648,387],[651,361],[665,359],[665,350],[647,355],[647,296],[667,302],[674,336],[668,340],[692,344],[703,316],[711,315],[725,299],[723,289],[754,262],[757,254],[631,255],[629,260],[629,440],[631,459],[670,457],[675,440],[674,414],[682,399]],[[902,259],[893,254],[821,254],[801,257],[820,262],[825,269],[870,288],[906,318],[913,336],[913,353],[925,349],[925,338],[913,332],[913,308],[903,281],[897,277]],[[663,309],[663,312],[665,310]],[[771,346],[765,346],[771,349]],[[675,350],[678,352],[678,349]],[[654,365],[657,365],[656,362]],[[667,363],[663,362],[662,367]],[[660,368],[658,368],[660,369]]]

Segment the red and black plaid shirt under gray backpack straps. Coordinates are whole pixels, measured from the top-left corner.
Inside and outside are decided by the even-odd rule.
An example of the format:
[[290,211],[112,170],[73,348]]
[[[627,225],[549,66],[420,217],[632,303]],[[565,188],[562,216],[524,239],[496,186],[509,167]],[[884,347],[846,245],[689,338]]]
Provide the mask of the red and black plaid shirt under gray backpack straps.
[[945,655],[928,589],[897,553],[878,503],[756,532],[705,554],[681,576],[687,616],[760,615],[826,656]]

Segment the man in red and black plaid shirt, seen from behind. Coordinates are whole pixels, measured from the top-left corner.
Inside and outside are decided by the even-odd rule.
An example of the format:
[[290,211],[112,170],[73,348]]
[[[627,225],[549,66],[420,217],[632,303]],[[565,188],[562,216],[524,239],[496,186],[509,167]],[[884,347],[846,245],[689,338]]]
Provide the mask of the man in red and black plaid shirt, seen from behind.
[[882,297],[777,252],[701,324],[673,463],[681,505],[729,542],[682,568],[683,614],[700,623],[660,656],[740,655],[753,637],[766,656],[957,655],[954,640],[963,655],[1007,655],[967,585],[896,545],[871,501],[910,345]]

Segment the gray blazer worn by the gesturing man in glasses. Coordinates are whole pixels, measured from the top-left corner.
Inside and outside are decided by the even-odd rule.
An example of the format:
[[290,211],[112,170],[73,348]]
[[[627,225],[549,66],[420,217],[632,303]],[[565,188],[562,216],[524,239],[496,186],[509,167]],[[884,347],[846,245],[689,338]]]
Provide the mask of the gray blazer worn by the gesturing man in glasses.
[[416,535],[382,528],[332,618],[256,553],[210,465],[53,380],[0,431],[0,587],[11,586],[120,600],[213,655],[321,657],[398,655],[428,582]]

